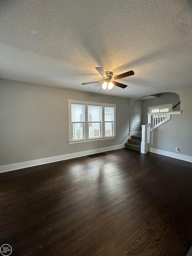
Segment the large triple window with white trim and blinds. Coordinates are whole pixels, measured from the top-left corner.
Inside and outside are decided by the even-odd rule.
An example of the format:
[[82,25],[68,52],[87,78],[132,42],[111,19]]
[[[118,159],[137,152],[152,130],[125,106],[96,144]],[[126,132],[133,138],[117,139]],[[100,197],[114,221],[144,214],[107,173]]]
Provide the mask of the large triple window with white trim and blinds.
[[68,100],[69,144],[115,139],[115,104]]

